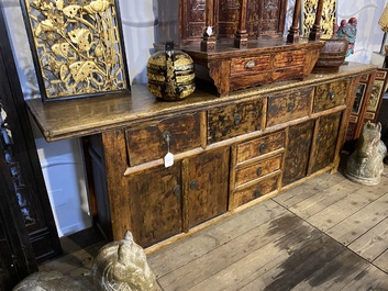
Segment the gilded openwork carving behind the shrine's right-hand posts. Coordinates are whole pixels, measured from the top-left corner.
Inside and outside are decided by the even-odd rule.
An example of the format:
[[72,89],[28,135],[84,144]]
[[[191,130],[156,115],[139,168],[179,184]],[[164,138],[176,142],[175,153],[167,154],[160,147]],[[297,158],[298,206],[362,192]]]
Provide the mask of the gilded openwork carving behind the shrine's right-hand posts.
[[[302,32],[304,37],[309,37],[310,27],[314,24],[318,0],[303,1],[303,23]],[[336,0],[323,2],[321,19],[321,37],[329,38],[333,34],[333,24],[336,23]]]

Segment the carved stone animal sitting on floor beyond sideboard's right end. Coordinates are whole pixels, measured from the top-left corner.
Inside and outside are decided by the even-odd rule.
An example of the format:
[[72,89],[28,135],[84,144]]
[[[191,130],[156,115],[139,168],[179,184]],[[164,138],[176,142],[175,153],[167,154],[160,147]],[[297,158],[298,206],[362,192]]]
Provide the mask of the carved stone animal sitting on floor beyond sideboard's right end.
[[381,124],[364,124],[356,149],[346,161],[345,176],[357,183],[374,186],[380,182],[387,147],[380,139]]

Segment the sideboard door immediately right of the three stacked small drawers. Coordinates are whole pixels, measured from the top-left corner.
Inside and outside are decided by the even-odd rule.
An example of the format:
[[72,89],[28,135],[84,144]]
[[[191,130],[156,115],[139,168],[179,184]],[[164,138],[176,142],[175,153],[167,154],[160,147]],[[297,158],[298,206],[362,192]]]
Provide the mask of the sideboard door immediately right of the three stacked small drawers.
[[306,177],[313,130],[314,121],[308,121],[289,127],[282,186]]

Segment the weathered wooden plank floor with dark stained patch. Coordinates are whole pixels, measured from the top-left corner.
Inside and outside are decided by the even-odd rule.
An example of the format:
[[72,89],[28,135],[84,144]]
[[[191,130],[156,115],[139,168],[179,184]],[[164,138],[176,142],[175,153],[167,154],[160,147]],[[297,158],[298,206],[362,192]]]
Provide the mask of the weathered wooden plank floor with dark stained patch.
[[[79,275],[102,242],[41,269]],[[365,187],[323,174],[148,254],[165,291],[388,290],[388,167]]]

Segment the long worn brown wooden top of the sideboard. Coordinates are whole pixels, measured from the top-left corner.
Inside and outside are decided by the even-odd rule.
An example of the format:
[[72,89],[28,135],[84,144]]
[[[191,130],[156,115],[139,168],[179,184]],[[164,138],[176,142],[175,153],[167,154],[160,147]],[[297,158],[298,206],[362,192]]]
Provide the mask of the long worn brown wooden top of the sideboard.
[[80,137],[101,133],[175,112],[190,112],[213,105],[248,100],[281,90],[298,89],[352,75],[367,74],[376,66],[350,63],[341,66],[336,74],[311,74],[303,80],[289,80],[231,92],[228,97],[196,90],[193,94],[178,102],[158,101],[146,86],[135,85],[131,92],[107,94],[84,99],[46,102],[41,99],[26,100],[26,105],[47,142]]

